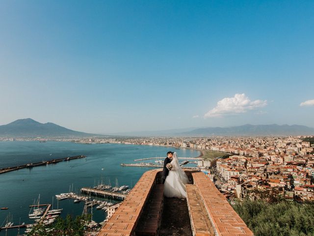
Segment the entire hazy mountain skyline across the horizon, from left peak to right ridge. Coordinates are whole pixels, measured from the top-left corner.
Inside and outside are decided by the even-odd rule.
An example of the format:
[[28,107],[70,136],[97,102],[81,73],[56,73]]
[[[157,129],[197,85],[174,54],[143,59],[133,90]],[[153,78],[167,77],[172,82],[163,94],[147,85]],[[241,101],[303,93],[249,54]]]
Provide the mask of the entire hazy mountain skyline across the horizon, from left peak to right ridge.
[[[159,131],[120,132],[110,136],[133,137],[206,137],[206,136],[288,136],[314,135],[314,128],[305,125],[244,124],[229,127],[190,127]],[[89,134],[74,131],[52,122],[40,123],[31,118],[17,119],[0,125],[0,137],[90,137]],[[97,136],[105,136],[97,135]]]

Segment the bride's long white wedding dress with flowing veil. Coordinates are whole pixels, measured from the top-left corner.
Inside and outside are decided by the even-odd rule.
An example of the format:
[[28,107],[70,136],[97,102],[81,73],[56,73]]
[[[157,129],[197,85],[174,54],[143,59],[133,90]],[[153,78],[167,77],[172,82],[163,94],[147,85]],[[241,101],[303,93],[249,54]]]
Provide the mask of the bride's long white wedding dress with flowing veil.
[[188,177],[179,165],[177,153],[173,153],[170,162],[172,169],[164,182],[164,195],[167,198],[186,198],[185,184],[189,183]]

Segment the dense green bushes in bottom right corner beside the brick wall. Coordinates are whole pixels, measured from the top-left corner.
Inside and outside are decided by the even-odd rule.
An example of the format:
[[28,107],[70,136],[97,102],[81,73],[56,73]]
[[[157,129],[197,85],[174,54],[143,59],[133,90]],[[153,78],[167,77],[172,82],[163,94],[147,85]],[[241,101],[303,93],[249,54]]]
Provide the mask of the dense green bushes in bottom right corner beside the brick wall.
[[314,236],[314,203],[244,199],[233,207],[255,236]]

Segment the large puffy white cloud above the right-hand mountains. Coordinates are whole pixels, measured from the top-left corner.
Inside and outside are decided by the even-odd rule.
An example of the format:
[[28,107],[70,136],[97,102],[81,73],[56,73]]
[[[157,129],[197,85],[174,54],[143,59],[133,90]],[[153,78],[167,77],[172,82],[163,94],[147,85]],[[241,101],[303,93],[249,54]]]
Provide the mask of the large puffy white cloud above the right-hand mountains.
[[237,93],[234,97],[225,97],[218,101],[217,106],[206,113],[204,118],[246,113],[266,105],[267,100],[251,101],[244,93]]

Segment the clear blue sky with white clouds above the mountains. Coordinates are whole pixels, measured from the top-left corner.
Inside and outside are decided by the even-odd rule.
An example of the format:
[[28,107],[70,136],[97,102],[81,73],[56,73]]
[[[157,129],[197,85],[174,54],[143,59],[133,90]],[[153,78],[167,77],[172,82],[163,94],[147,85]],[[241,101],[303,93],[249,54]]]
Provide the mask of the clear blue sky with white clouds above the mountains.
[[2,0],[0,124],[314,127],[313,12],[311,0]]

